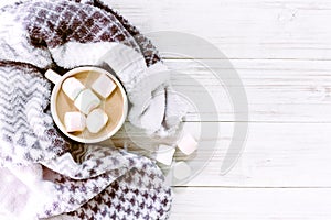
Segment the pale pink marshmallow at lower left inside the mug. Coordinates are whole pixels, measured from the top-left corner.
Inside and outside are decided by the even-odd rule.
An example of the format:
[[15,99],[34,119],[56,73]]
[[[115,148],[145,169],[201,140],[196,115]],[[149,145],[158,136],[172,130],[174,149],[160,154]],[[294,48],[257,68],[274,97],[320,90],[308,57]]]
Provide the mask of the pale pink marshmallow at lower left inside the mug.
[[86,118],[79,111],[70,111],[64,114],[64,125],[67,132],[83,131],[85,129]]

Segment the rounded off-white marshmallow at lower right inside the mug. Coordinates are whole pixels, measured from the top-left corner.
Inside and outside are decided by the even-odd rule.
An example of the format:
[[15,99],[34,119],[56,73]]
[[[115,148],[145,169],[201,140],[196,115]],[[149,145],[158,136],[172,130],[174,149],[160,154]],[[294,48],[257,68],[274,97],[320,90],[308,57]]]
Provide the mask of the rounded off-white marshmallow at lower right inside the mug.
[[86,119],[86,127],[90,133],[98,133],[107,123],[108,116],[103,109],[93,110]]

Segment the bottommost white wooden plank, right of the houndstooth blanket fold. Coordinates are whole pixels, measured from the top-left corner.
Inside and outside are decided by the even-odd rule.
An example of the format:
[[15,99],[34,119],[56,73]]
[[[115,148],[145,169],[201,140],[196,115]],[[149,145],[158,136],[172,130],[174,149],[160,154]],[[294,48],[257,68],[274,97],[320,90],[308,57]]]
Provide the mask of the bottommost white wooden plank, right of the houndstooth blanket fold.
[[170,220],[329,220],[331,189],[175,188]]

